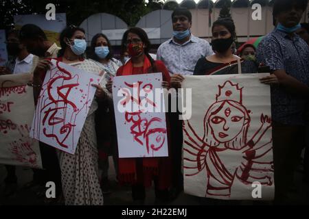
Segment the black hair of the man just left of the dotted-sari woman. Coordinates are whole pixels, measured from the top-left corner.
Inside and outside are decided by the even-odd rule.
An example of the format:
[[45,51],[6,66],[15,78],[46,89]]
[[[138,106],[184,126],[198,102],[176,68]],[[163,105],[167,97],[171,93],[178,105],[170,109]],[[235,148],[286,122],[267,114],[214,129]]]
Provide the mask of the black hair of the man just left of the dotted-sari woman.
[[43,40],[47,40],[46,34],[40,27],[33,24],[23,25],[23,27],[21,27],[21,30],[19,31],[20,40],[38,39],[38,38],[43,38]]

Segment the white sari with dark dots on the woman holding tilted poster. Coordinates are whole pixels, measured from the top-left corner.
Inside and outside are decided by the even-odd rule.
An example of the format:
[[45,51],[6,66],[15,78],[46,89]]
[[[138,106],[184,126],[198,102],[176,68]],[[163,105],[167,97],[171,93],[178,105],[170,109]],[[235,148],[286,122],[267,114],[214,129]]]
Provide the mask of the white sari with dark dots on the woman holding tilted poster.
[[[98,75],[102,72],[90,60],[70,65]],[[65,205],[103,205],[95,134],[95,110],[97,109],[98,103],[94,99],[80,133],[76,153],[71,155],[58,151]]]

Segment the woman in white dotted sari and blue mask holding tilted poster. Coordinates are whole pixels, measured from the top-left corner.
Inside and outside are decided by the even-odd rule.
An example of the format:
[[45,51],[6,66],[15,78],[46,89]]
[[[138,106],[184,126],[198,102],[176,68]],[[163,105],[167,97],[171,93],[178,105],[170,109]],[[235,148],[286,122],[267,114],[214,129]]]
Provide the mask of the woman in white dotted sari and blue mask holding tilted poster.
[[[60,34],[60,44],[62,49],[58,53],[58,58],[56,58],[57,64],[58,62],[64,62],[65,64],[80,68],[89,73],[103,75],[104,72],[102,72],[101,68],[91,60],[84,60],[82,57],[87,48],[84,29],[74,26],[65,28]],[[50,60],[40,62],[34,71],[33,86],[36,89],[36,93],[39,92],[43,83],[43,78],[51,64],[52,62],[50,62]],[[64,68],[58,68],[60,71],[64,71],[65,75],[71,75],[71,73]],[[62,77],[61,79],[65,81],[68,77]],[[98,109],[98,101],[105,99],[106,95],[101,86],[93,86],[97,88],[95,92],[96,98],[91,103],[84,127],[80,133],[76,152],[70,154],[58,151],[62,190],[66,205],[103,205],[103,196],[98,176],[95,110]],[[67,92],[70,92],[70,89]],[[66,96],[68,95],[69,94]],[[37,100],[38,96],[35,95],[34,98]],[[59,99],[62,98],[63,95],[59,94]],[[64,99],[63,101],[69,100]],[[66,118],[54,118],[54,123],[62,119],[65,120]],[[71,129],[72,127],[68,127],[68,125],[63,127],[57,137],[62,138],[62,136],[68,134],[67,132]]]

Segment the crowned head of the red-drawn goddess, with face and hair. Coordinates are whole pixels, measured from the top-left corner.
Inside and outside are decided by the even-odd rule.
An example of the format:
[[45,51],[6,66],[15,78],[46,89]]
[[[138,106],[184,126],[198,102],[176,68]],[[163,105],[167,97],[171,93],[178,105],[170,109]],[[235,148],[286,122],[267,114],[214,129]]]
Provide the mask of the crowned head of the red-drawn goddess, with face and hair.
[[242,88],[233,88],[226,82],[219,88],[216,103],[207,110],[204,118],[203,140],[210,146],[224,144],[227,149],[242,149],[247,143],[251,118],[242,105]]

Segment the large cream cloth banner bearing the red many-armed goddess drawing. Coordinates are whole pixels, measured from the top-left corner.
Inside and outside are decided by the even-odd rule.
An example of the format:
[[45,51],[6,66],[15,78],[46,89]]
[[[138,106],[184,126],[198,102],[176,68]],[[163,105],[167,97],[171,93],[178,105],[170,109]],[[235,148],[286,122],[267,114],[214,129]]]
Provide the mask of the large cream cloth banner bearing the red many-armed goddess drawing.
[[185,192],[270,200],[274,195],[270,86],[266,74],[187,76],[192,118],[184,120]]

